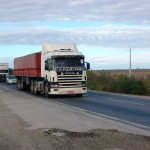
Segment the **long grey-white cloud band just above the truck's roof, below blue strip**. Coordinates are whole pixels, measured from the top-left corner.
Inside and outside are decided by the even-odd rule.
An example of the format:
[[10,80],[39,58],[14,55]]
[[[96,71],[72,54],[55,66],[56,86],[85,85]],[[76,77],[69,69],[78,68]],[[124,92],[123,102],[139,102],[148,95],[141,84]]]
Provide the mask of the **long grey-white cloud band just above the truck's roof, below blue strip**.
[[27,26],[1,31],[0,44],[77,43],[101,47],[150,47],[150,28],[144,26],[99,26],[59,28]]

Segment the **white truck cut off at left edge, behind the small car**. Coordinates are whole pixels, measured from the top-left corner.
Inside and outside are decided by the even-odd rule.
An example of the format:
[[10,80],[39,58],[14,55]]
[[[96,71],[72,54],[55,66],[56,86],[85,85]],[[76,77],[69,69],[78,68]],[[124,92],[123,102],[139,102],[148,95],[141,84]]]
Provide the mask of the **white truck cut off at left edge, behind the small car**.
[[0,63],[0,81],[5,82],[9,74],[8,63]]

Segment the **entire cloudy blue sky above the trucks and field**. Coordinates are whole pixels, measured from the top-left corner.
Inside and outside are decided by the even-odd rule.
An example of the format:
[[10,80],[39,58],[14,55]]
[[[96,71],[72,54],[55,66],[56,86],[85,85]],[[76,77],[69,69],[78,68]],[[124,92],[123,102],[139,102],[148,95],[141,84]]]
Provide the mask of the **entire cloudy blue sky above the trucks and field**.
[[92,70],[150,69],[149,0],[0,0],[0,62],[76,43]]

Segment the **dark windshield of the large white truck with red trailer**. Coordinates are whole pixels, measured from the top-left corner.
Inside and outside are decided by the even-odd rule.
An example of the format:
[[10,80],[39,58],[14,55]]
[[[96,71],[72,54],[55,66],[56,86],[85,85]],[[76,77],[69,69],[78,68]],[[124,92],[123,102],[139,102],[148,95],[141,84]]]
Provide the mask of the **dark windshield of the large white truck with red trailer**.
[[55,60],[55,67],[79,67],[84,66],[83,58],[60,58]]

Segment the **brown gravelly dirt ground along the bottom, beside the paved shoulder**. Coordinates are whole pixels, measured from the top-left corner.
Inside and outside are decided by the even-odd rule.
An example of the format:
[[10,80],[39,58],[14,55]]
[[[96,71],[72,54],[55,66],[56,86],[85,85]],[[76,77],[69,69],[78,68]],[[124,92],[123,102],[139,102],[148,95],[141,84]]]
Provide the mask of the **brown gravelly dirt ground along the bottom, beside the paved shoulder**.
[[29,125],[0,100],[0,150],[149,150],[150,137],[117,130],[27,130]]

